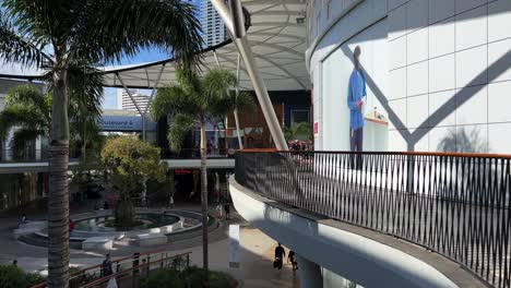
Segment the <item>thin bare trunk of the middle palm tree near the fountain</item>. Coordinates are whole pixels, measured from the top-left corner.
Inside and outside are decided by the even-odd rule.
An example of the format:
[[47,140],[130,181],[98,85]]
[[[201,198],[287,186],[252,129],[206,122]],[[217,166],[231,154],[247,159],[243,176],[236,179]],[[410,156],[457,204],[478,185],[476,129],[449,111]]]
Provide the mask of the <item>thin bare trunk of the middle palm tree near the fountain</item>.
[[207,269],[207,168],[205,120],[201,119],[202,267]]

